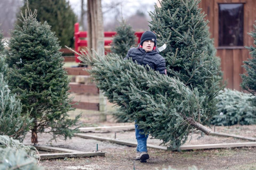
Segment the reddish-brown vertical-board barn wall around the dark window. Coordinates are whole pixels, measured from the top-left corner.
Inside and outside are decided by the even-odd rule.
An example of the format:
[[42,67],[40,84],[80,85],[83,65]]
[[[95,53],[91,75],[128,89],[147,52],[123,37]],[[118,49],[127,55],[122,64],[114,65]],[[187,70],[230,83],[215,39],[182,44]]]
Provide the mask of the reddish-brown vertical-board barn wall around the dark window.
[[211,38],[214,38],[217,56],[221,58],[221,69],[223,79],[227,81],[227,88],[242,90],[239,84],[242,82],[239,74],[245,73],[241,67],[243,61],[249,58],[249,51],[242,46],[237,48],[218,47],[218,3],[244,3],[244,29],[243,43],[244,46],[253,45],[253,39],[247,33],[253,30],[253,24],[256,20],[256,0],[202,0],[199,7],[207,14],[206,19],[210,21]]

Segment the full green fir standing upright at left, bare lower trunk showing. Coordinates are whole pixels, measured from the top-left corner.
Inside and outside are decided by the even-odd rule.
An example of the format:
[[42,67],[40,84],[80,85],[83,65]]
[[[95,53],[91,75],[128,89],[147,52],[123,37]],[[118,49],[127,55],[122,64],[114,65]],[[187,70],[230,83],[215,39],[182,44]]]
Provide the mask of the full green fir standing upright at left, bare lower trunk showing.
[[37,21],[36,10],[34,14],[26,10],[25,16],[22,12],[21,16],[22,27],[15,25],[11,31],[7,77],[10,89],[23,104],[22,112],[32,108],[31,142],[37,143],[37,132],[45,132],[46,128],[54,139],[56,135],[71,138],[78,129],[70,126],[77,124],[80,115],[74,120],[68,118],[67,112],[73,110],[72,99],[58,38],[47,22]]

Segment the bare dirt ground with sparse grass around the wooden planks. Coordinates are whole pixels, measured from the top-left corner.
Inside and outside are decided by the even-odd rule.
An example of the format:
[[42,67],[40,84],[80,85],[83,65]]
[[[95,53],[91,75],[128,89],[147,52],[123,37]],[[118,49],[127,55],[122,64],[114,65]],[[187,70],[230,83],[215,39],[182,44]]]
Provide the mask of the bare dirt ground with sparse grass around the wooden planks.
[[[74,114],[70,113],[71,117]],[[98,114],[93,112],[83,113],[83,127],[87,126],[115,126],[115,125],[133,125],[134,123],[114,123],[111,115],[107,116],[107,121],[104,123],[98,122]],[[216,126],[216,131],[239,134],[244,136],[256,137],[256,125],[250,126]],[[135,132],[133,131],[120,131],[116,130],[101,130],[93,131],[86,134],[93,134],[102,137],[114,138],[114,135],[120,140],[126,140],[135,142]],[[30,143],[30,133],[27,134],[24,142]],[[185,145],[196,144],[210,144],[210,143],[230,143],[230,142],[249,142],[242,139],[205,136],[201,139],[197,139],[199,134],[193,134],[191,141],[188,141]],[[79,137],[73,137],[66,141],[61,138],[57,139],[57,142],[49,142],[51,135],[38,134],[39,145],[49,145],[55,147],[68,148],[78,151],[95,151],[96,144],[98,143],[99,151],[105,152],[105,156],[95,156],[90,158],[65,158],[65,159],[49,159],[41,160],[40,165],[45,169],[57,170],[57,169],[86,169],[86,170],[100,170],[100,169],[133,169],[133,161],[135,158],[135,147],[117,145],[109,142],[101,142],[93,139],[83,139]],[[148,139],[149,144],[158,145],[161,141],[157,139]],[[41,151],[40,151],[41,152]],[[195,165],[198,169],[256,169],[256,147],[249,148],[227,148],[227,149],[211,149],[211,150],[190,150],[190,151],[163,151],[158,149],[148,149],[150,159],[147,163],[140,163],[135,161],[135,169],[162,169],[169,166],[175,169],[188,169]],[[45,153],[45,152],[41,152]]]

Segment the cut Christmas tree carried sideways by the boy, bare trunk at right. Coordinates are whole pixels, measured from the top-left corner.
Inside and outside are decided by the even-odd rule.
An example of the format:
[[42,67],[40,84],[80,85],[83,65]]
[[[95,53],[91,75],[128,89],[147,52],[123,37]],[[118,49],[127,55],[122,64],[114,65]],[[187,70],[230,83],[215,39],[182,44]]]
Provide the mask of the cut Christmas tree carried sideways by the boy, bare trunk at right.
[[91,65],[92,69],[87,71],[107,99],[121,106],[126,116],[136,120],[139,128],[152,137],[177,148],[197,128],[210,133],[194,121],[204,116],[205,96],[199,97],[197,88],[191,90],[178,78],[159,74],[132,60],[123,60],[117,54],[95,54],[92,60],[92,55],[81,55],[80,60]]

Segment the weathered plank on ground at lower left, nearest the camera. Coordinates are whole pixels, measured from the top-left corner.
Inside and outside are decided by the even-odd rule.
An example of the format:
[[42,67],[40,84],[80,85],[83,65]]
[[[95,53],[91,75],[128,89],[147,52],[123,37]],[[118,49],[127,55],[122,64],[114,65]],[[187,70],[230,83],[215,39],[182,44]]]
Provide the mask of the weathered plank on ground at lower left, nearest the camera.
[[39,154],[41,159],[83,157],[83,156],[105,156],[105,152],[69,152],[56,154]]

